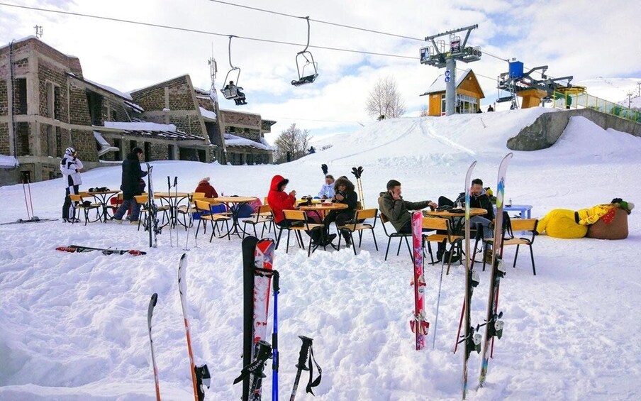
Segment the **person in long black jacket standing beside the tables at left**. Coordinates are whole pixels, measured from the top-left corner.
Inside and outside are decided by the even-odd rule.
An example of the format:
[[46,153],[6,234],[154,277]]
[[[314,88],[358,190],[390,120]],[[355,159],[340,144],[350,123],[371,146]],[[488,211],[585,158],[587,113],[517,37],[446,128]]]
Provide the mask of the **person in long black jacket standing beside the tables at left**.
[[140,186],[140,179],[147,175],[146,171],[140,168],[140,159],[143,157],[143,150],[134,148],[123,161],[123,203],[116,213],[113,214],[113,221],[120,224],[123,222],[123,216],[133,206],[130,215],[130,224],[138,224],[138,215],[140,214],[140,204],[135,202],[135,196],[143,193]]

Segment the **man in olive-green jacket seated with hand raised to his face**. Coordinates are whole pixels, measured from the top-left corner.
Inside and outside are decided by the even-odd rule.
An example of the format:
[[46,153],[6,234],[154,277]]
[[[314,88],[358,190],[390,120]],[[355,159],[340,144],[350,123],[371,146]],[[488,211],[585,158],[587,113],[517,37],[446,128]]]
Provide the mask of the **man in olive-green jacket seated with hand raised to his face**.
[[401,182],[389,180],[387,192],[381,192],[379,197],[379,210],[389,220],[396,232],[402,234],[412,233],[412,215],[410,210],[420,210],[426,207],[437,207],[434,202],[427,200],[421,202],[408,202],[401,197]]

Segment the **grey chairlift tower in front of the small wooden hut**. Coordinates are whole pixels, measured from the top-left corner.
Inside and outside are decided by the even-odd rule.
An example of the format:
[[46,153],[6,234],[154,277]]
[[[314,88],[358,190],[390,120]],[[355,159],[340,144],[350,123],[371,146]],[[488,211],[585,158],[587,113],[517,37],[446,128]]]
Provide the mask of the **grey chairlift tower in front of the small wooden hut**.
[[[420,63],[434,67],[445,67],[445,116],[456,114],[456,62],[473,62],[481,60],[481,50],[478,47],[468,47],[467,39],[472,29],[478,28],[478,24],[466,26],[452,31],[438,33],[437,35],[426,36],[425,41],[432,42],[431,46],[420,48]],[[467,31],[465,38],[457,35],[459,32]],[[442,36],[448,36],[450,49],[445,50],[445,40],[436,40]]]

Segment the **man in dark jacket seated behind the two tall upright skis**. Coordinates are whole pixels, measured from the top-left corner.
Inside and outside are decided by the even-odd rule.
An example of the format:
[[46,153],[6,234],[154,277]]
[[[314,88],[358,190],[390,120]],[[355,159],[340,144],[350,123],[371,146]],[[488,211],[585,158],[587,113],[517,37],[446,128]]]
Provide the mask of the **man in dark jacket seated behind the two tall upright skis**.
[[[455,202],[452,202],[446,197],[438,198],[439,206],[448,205],[454,207],[455,205],[459,204],[459,202],[461,203],[462,207],[465,207],[465,192],[461,192]],[[483,181],[480,178],[475,178],[474,180],[472,180],[472,187],[469,188],[469,207],[485,209],[487,211],[484,216],[470,217],[469,223],[470,226],[475,226],[476,223],[481,223],[481,226],[483,226],[483,238],[492,238],[494,236],[494,207],[492,206],[489,194],[483,187]],[[440,256],[442,256],[443,251],[445,251],[445,245],[441,243],[439,243],[438,245],[439,246],[436,257],[440,260]],[[491,258],[491,253],[491,246],[486,246],[486,258],[488,255],[489,258]]]

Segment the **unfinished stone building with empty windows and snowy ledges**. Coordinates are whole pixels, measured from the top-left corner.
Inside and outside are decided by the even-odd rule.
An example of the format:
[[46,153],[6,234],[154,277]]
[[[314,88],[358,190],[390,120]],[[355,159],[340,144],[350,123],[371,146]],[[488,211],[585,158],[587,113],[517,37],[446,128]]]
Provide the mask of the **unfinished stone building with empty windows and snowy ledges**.
[[273,123],[218,110],[216,94],[189,75],[126,94],[86,79],[77,57],[38,38],[0,48],[0,185],[21,172],[32,182],[58,177],[69,145],[86,169],[121,163],[136,146],[147,161],[272,163],[264,133]]

